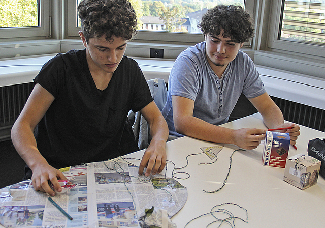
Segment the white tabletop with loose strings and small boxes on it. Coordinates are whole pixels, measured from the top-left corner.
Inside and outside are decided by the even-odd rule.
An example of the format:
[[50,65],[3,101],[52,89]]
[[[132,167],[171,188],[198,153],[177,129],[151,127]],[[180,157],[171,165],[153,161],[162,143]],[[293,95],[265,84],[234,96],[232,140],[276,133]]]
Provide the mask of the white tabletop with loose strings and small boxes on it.
[[[265,128],[258,113],[223,126],[233,129]],[[316,137],[325,137],[325,133],[301,126],[301,135],[297,141],[298,150],[290,146],[289,157],[299,153],[307,154],[308,141]],[[202,152],[200,147],[215,145],[217,144],[190,137],[175,139],[167,143],[167,159],[173,161],[177,167],[182,167],[186,165],[187,155]],[[177,227],[184,227],[192,218],[209,213],[213,206],[222,203],[235,203],[248,211],[248,223],[236,220],[236,227],[325,226],[325,180],[319,176],[317,184],[305,190],[288,184],[283,181],[284,168],[262,165],[263,145],[259,145],[255,150],[235,152],[226,185],[216,193],[203,192],[202,189],[213,191],[221,187],[229,170],[230,155],[235,149],[238,147],[225,145],[218,154],[218,160],[211,165],[198,165],[200,162],[211,162],[205,154],[188,157],[188,166],[179,170],[188,172],[190,178],[178,180],[187,187],[188,199],[185,206],[172,217]],[[141,158],[142,154],[140,151],[126,157]],[[173,165],[168,163],[169,177],[172,168]],[[245,218],[243,210],[231,208],[235,216]],[[205,216],[191,222],[187,228],[206,227],[211,221],[211,216]],[[215,223],[209,227],[218,225],[219,223]],[[221,227],[230,226],[222,224]]]

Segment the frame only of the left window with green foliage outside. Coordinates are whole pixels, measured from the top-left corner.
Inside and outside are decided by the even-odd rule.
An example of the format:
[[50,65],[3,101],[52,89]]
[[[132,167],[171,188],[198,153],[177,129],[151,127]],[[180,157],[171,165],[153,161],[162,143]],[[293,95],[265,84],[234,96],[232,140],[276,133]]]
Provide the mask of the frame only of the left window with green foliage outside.
[[48,38],[51,36],[50,1],[39,0],[40,26],[0,28],[0,38]]

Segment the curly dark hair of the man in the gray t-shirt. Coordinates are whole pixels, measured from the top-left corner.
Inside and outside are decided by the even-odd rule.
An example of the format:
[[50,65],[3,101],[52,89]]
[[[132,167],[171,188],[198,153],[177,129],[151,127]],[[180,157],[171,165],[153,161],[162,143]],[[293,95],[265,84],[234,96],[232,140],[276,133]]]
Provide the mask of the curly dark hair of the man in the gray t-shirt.
[[247,42],[254,36],[252,19],[241,6],[219,5],[209,9],[198,25],[204,35],[218,36],[223,30],[223,37],[236,43]]

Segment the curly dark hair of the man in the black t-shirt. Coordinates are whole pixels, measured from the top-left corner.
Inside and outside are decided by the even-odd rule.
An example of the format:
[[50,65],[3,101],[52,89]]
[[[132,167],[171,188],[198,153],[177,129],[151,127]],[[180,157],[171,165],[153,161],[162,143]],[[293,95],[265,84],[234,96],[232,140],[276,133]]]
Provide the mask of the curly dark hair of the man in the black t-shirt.
[[78,6],[81,30],[88,42],[94,36],[106,35],[131,40],[137,33],[137,16],[127,0],[83,0]]

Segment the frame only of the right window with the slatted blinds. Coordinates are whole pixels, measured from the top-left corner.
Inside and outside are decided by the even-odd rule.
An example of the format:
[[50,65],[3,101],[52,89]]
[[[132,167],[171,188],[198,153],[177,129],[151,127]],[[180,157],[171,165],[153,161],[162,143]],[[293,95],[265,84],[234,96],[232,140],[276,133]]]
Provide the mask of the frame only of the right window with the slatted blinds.
[[267,49],[284,53],[314,55],[324,58],[325,46],[278,39],[278,34],[280,31],[279,26],[281,19],[282,1],[284,0],[274,0],[271,6],[271,15],[269,19],[270,29]]

